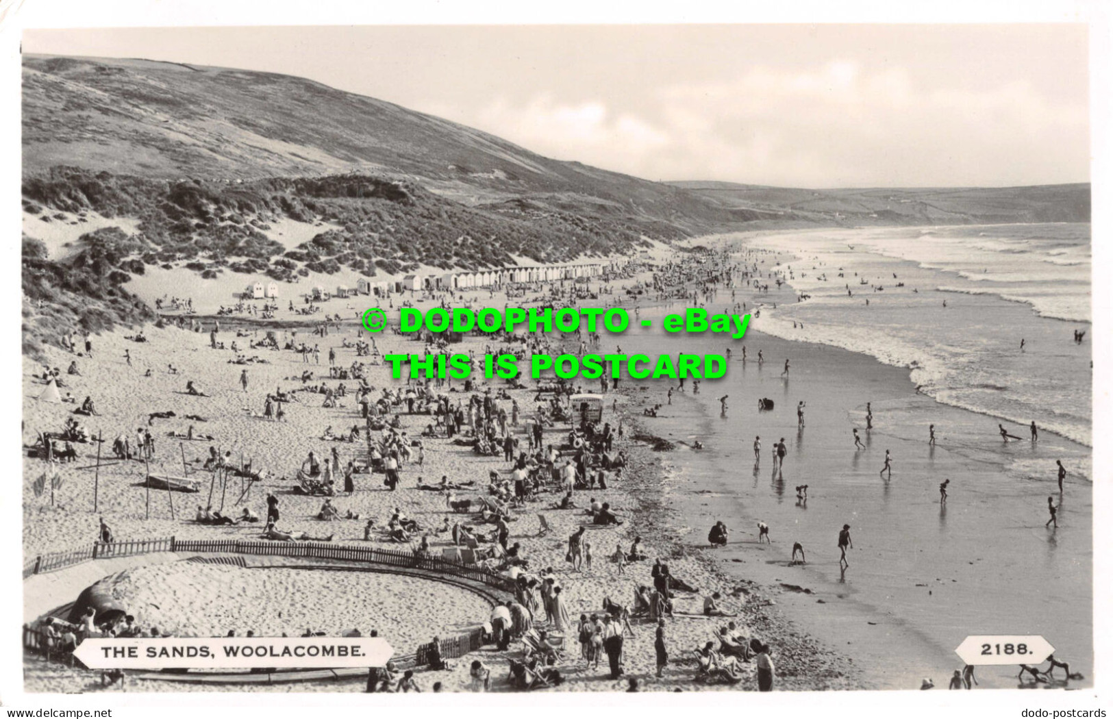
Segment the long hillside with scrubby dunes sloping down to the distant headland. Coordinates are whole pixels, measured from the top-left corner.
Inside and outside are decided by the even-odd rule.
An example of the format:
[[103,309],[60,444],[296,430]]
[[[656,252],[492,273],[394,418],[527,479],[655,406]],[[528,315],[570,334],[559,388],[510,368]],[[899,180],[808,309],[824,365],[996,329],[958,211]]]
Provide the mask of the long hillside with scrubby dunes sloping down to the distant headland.
[[199,278],[398,275],[569,262],[747,228],[1090,213],[1082,185],[652,183],[304,78],[138,59],[24,56],[22,142],[32,353],[67,323],[150,319],[124,287],[149,267]]

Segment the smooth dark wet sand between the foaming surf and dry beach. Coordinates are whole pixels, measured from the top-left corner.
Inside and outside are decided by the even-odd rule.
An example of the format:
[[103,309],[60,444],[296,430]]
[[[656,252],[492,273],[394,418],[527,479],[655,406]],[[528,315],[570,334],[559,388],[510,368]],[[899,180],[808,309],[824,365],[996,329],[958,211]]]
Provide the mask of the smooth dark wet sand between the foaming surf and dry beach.
[[[712,303],[715,304],[715,303]],[[644,311],[643,311],[643,314]],[[755,321],[751,327],[760,319]],[[657,352],[653,335],[624,338]],[[722,343],[684,341],[686,352],[722,352]],[[742,363],[738,344],[750,361]],[[757,351],[766,362],[758,365]],[[917,395],[908,371],[823,345],[786,342],[750,329],[732,345],[727,377],[705,382],[700,394],[674,394],[657,418],[639,420],[647,432],[669,440],[696,439],[702,451],[680,449],[667,460],[669,501],[678,502],[686,542],[707,546],[716,520],[733,532],[722,550],[705,550],[728,572],[782,589],[801,628],[843,649],[883,688],[909,689],[924,677],[936,684],[962,668],[954,648],[968,634],[1044,634],[1067,657],[1072,670],[1092,673],[1090,481],[1068,477],[1058,530],[1044,528],[1046,498],[1060,498],[1055,459],[1089,467],[1089,447],[1050,433],[1037,444],[1004,445],[997,421]],[[789,378],[781,378],[791,358]],[[667,385],[642,383],[649,403],[663,403]],[[728,416],[718,397],[729,394]],[[771,412],[757,400],[770,397]],[[804,400],[806,426],[797,429]],[[866,431],[865,404],[873,403],[874,430]],[[927,425],[937,444],[927,445]],[[867,449],[856,451],[851,427]],[[761,460],[754,461],[755,435]],[[1026,435],[1025,435],[1026,436]],[[772,444],[785,437],[781,473],[772,471]],[[885,450],[893,479],[878,472]],[[948,501],[938,484],[951,477]],[[795,487],[808,484],[808,501]],[[757,544],[757,522],[770,525],[771,544]],[[849,570],[839,571],[836,539],[851,525]],[[807,565],[789,565],[794,542]],[[789,585],[785,588],[782,585]],[[810,593],[800,591],[810,590]],[[979,668],[983,687],[1015,687],[1011,667]],[[1074,686],[1074,682],[1072,682]]]

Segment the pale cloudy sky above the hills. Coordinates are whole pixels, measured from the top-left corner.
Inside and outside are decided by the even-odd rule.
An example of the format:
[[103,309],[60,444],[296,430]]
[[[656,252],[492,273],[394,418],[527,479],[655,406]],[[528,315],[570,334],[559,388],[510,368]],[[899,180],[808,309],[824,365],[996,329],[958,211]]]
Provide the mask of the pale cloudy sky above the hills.
[[651,180],[1090,180],[1084,24],[28,30],[22,50],[296,75]]

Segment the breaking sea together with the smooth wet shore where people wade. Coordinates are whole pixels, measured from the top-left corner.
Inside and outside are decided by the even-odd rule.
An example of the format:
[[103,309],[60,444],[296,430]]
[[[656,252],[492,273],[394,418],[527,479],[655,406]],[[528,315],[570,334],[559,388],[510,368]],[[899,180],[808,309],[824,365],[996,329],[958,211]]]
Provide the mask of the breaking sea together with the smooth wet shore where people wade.
[[[737,301],[745,298],[751,312],[756,303],[761,308],[745,339],[662,334],[656,319],[683,305],[642,308],[654,327],[628,333],[628,352],[723,354],[730,346],[732,353],[726,377],[705,382],[698,396],[689,381],[671,406],[664,392],[674,382],[637,383],[632,410],[639,411],[639,401],[664,405],[659,417],[641,422],[677,442],[662,457],[663,489],[683,541],[706,546],[708,529],[722,520],[732,542],[713,551],[728,571],[812,588],[828,602],[820,611],[833,618],[855,614],[838,605],[853,602],[881,626],[920,638],[929,651],[886,650],[893,688],[910,688],[923,676],[945,679],[961,668],[953,649],[977,633],[1044,634],[1089,679],[1091,368],[1089,338],[1082,345],[1072,339],[1073,329],[1089,329],[1085,230],[870,228],[749,237],[749,247],[779,253],[765,256],[761,272],[776,267],[787,278],[791,267],[794,278],[787,292],[769,280],[769,295],[739,284]],[[1056,286],[1074,298],[1057,297],[1055,312],[1044,304],[1041,313],[1041,296]],[[792,289],[811,297],[795,302]],[[707,306],[730,304],[729,289],[721,289]],[[748,348],[745,364],[741,345]],[[756,362],[758,349],[764,365]],[[791,370],[782,376],[786,358]],[[775,410],[759,411],[759,397],[775,400]],[[799,401],[806,402],[802,430],[796,426]],[[866,402],[871,431],[865,429]],[[1038,442],[1017,426],[1033,420],[1043,429]],[[998,422],[1022,440],[1003,442]],[[929,424],[936,425],[934,449],[927,446]],[[855,449],[851,427],[867,449]],[[754,461],[755,435],[761,436],[760,462]],[[784,471],[774,472],[770,451],[780,437],[788,457]],[[695,449],[697,440],[702,450]],[[888,481],[878,473],[885,450],[895,457]],[[1062,495],[1056,459],[1070,472]],[[944,479],[952,480],[946,504],[938,492]],[[807,502],[796,500],[800,484],[809,485]],[[1044,526],[1048,495],[1061,506],[1057,530]],[[756,544],[757,521],[772,528],[772,545]],[[856,546],[845,573],[835,548],[843,523],[851,524]],[[787,565],[796,541],[808,551],[806,568]],[[864,622],[863,638],[877,631],[888,630]],[[986,686],[1015,686],[1008,668],[979,670],[979,677]]]

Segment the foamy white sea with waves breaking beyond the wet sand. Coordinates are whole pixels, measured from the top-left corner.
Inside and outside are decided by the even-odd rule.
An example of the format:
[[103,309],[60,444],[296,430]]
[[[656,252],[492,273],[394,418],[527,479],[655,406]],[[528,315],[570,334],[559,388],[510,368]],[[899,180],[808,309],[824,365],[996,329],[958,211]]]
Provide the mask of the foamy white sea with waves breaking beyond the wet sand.
[[791,273],[810,295],[766,303],[755,327],[909,367],[940,402],[1092,446],[1089,224],[816,230],[749,245],[778,253],[760,269]]

